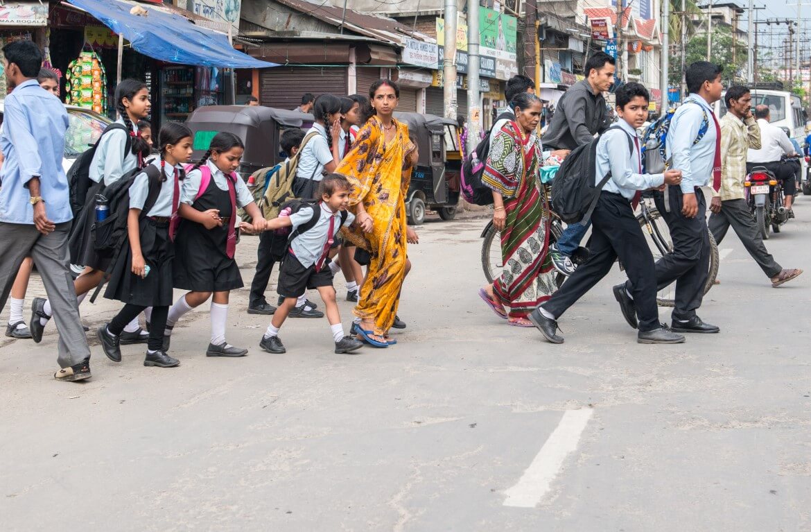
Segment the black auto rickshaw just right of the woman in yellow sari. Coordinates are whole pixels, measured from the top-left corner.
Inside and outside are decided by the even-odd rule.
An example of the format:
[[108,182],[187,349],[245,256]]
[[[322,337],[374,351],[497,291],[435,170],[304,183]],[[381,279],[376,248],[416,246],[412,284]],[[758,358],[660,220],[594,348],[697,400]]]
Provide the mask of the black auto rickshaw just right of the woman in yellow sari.
[[457,122],[419,113],[395,113],[394,118],[408,126],[411,142],[419,150],[405,198],[409,223],[422,224],[426,206],[436,210],[443,220],[452,220],[459,203],[461,169]]

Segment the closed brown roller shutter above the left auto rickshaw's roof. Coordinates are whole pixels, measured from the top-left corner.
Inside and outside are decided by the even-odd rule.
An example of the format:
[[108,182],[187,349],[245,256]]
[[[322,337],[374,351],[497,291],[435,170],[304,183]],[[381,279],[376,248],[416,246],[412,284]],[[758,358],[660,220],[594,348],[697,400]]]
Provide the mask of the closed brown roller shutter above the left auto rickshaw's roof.
[[261,72],[260,104],[278,109],[295,109],[301,105],[304,92],[315,96],[331,93],[346,94],[346,67],[309,68],[307,66],[276,66]]

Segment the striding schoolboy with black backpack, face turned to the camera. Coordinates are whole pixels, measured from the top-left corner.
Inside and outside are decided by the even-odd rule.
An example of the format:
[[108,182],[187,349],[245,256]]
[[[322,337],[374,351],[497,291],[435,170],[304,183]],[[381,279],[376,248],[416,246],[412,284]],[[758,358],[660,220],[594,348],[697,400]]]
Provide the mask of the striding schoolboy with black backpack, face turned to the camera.
[[[647,118],[649,99],[648,91],[642,84],[629,83],[620,87],[616,91],[616,112],[620,120],[594,141],[597,142],[594,185],[599,186],[607,175],[611,178],[599,192],[599,200],[591,214],[590,259],[529,316],[535,327],[552,343],[564,341],[556,333],[556,320],[611,271],[617,256],[629,278],[634,281],[633,296],[639,315],[637,341],[641,344],[676,344],[684,341],[683,336],[659,324],[654,259],[631,206],[637,200],[638,191],[661,187],[664,183],[678,185],[681,181],[679,170],[642,174],[637,127],[641,127]],[[624,291],[624,287],[620,288]],[[637,315],[633,315],[634,323],[636,320]]]

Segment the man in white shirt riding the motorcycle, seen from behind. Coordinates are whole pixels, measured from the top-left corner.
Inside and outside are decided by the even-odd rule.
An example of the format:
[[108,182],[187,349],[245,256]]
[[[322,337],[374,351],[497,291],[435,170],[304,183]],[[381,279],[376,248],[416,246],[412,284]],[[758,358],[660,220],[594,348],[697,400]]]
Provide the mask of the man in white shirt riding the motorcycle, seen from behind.
[[761,148],[749,148],[749,155],[746,157],[746,173],[752,171],[755,166],[763,166],[775,177],[783,182],[783,192],[786,195],[786,208],[788,217],[793,218],[792,202],[796,194],[796,182],[794,176],[793,163],[782,163],[780,159],[783,155],[797,157],[798,154],[792,146],[792,141],[788,139],[786,132],[770,123],[770,111],[768,105],[757,105],[755,107],[755,118],[761,131]]

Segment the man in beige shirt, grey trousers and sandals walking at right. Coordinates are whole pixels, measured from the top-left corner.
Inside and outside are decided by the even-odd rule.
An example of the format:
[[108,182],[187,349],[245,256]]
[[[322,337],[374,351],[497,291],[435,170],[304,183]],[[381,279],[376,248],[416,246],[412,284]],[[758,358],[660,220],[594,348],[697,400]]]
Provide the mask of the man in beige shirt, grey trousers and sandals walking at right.
[[749,204],[744,194],[746,178],[746,155],[749,148],[761,148],[761,132],[752,116],[752,95],[749,88],[733,85],[724,97],[727,114],[721,118],[721,190],[713,192],[710,203],[710,227],[715,242],[719,244],[732,226],[743,242],[746,251],[770,278],[771,285],[778,287],[791,281],[803,271],[783,269],[766,251],[760,231],[757,230]]

